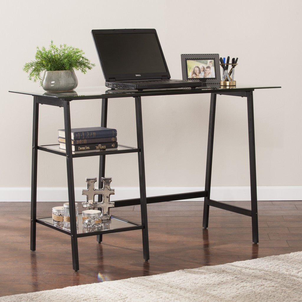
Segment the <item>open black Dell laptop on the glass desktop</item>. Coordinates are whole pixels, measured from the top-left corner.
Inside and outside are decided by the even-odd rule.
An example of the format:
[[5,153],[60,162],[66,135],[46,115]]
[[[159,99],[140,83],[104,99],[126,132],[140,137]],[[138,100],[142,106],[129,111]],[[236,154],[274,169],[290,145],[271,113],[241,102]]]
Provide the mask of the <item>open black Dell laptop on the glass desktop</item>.
[[105,85],[112,89],[195,88],[202,82],[170,79],[155,29],[92,30]]

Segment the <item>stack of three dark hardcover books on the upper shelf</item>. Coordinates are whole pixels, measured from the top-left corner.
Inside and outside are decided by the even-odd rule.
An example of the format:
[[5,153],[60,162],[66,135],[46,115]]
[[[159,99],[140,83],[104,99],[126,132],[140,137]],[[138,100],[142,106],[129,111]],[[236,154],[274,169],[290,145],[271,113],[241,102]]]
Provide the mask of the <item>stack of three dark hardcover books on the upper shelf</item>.
[[[65,130],[59,129],[60,149],[66,150]],[[71,129],[72,152],[101,151],[117,148],[117,130],[106,127]]]

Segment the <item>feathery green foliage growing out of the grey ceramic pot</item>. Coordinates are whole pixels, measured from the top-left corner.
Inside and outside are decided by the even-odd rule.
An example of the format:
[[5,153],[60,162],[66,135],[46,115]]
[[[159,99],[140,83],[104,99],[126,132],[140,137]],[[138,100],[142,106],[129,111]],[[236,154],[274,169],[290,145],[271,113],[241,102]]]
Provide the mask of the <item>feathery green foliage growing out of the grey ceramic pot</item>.
[[44,70],[80,70],[84,74],[87,69],[92,69],[95,64],[83,56],[83,50],[66,44],[57,47],[53,44],[53,40],[50,42],[49,49],[44,46],[41,49],[37,46],[37,53],[35,60],[26,63],[23,70],[29,73],[28,78],[31,81],[40,82],[42,86],[41,72]]

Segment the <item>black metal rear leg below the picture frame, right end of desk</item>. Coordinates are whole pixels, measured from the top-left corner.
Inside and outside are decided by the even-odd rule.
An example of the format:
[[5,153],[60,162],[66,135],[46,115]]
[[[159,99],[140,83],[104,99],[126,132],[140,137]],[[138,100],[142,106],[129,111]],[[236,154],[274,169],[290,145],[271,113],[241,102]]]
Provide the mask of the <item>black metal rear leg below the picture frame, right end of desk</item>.
[[207,166],[206,166],[206,179],[205,179],[205,186],[204,186],[204,190],[207,192],[207,196],[204,198],[204,214],[203,214],[203,222],[202,222],[202,226],[204,228],[207,228],[209,224],[210,206],[207,204],[207,202],[208,200],[210,200],[210,191],[211,191],[215,111],[216,111],[216,94],[211,93],[209,133],[208,133],[208,145],[207,145]]

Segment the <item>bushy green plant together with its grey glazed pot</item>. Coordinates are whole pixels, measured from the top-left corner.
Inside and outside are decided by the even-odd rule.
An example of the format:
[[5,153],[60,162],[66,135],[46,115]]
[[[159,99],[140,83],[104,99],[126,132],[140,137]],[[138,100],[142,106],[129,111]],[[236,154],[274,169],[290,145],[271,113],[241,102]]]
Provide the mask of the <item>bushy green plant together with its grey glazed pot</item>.
[[69,91],[78,85],[74,69],[85,74],[87,69],[95,66],[83,55],[83,50],[79,48],[66,44],[57,47],[51,41],[49,49],[37,47],[35,60],[26,63],[23,70],[29,73],[30,80],[39,81],[46,91]]

